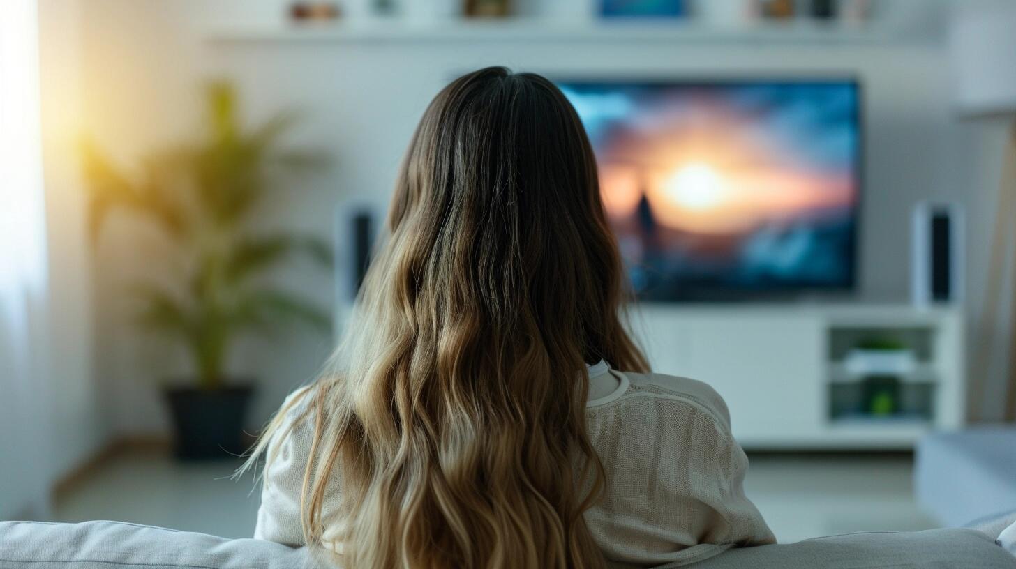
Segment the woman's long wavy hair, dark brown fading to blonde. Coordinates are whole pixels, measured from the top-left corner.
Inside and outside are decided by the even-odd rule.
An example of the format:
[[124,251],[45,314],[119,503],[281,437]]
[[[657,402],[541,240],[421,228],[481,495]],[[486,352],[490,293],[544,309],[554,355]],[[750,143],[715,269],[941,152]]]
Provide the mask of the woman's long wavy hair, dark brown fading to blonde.
[[532,73],[452,81],[412,136],[386,229],[295,420],[313,428],[307,543],[357,568],[602,566],[582,515],[604,482],[586,363],[647,365],[622,325],[624,273],[574,109]]

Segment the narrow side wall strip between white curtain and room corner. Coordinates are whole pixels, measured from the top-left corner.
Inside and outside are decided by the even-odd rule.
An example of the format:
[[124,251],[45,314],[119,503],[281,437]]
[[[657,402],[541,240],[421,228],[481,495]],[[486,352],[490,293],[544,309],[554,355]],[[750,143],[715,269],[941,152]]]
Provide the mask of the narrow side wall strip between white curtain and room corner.
[[78,465],[108,437],[92,369],[90,250],[77,161],[83,8],[76,0],[39,2],[53,478]]

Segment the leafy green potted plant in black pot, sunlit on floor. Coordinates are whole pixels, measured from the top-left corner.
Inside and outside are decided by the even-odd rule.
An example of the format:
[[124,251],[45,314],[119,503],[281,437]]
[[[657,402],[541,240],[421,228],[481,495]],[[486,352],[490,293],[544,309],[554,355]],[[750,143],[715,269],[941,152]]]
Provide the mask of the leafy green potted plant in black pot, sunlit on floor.
[[125,210],[156,228],[166,243],[146,252],[146,268],[157,277],[133,282],[130,292],[137,323],[180,342],[190,355],[193,377],[164,390],[177,454],[184,458],[244,450],[252,382],[227,369],[238,338],[291,323],[330,330],[327,312],[267,278],[299,254],[329,267],[328,243],[257,227],[265,198],[290,191],[283,180],[292,182],[327,161],[319,152],[279,147],[294,114],[245,130],[237,103],[230,84],[210,85],[204,135],[147,156],[137,176],[118,170],[93,144],[84,150],[93,241],[112,211]]

